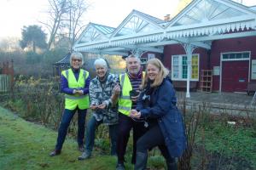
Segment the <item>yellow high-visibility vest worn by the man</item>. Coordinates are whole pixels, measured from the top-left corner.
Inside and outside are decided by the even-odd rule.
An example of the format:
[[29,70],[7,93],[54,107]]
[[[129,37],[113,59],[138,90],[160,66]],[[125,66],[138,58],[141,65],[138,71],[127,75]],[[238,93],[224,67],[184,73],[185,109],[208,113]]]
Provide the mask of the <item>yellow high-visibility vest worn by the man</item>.
[[[144,75],[145,73],[143,72],[143,77]],[[129,115],[132,105],[130,98],[130,91],[132,90],[132,87],[127,73],[119,75],[119,81],[122,87],[122,93],[119,96],[119,112],[124,115]]]

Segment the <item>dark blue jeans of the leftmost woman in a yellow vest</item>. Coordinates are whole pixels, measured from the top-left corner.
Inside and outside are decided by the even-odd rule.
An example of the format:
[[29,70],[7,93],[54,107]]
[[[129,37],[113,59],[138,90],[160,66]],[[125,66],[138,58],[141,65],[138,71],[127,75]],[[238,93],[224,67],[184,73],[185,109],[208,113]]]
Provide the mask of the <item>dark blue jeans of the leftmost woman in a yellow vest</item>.
[[67,135],[67,129],[69,127],[69,124],[74,116],[74,114],[78,111],[78,144],[83,145],[84,144],[84,128],[85,128],[85,117],[87,110],[80,110],[79,108],[76,108],[74,110],[64,110],[64,113],[62,115],[61,124],[58,131],[58,138],[57,138],[57,144],[55,145],[55,150],[61,150],[62,145],[65,141],[66,135]]

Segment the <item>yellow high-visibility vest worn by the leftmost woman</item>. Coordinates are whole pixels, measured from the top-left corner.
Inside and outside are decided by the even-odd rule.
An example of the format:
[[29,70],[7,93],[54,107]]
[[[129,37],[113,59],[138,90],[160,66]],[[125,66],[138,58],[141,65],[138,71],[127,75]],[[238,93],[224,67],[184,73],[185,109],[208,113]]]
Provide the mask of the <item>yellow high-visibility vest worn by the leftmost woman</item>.
[[[89,77],[89,72],[84,71],[83,69],[80,69],[78,81],[76,80],[72,69],[62,71],[61,74],[66,77],[68,88],[84,88],[85,80]],[[77,106],[79,106],[80,110],[88,109],[89,95],[65,94],[65,109],[74,110]]]

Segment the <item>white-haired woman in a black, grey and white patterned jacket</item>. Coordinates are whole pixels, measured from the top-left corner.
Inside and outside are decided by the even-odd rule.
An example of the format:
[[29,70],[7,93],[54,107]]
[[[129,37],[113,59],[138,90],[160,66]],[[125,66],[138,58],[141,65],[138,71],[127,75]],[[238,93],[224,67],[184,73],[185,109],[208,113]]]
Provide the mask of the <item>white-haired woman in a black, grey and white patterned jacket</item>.
[[96,77],[90,82],[90,109],[92,116],[86,127],[85,150],[79,160],[90,158],[94,146],[96,127],[108,125],[111,139],[111,155],[116,155],[116,140],[118,128],[118,106],[120,87],[118,77],[108,72],[105,59],[94,62]]

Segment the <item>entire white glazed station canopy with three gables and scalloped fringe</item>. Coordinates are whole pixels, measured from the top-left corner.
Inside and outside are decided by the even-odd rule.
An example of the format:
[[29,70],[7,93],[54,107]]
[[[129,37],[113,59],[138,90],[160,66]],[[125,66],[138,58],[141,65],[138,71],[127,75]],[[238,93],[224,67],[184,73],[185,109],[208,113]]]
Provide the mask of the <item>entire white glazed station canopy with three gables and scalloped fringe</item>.
[[212,40],[256,36],[256,11],[231,0],[194,0],[170,21],[132,10],[117,27],[90,23],[75,51],[128,55],[163,53],[166,44],[211,48]]

